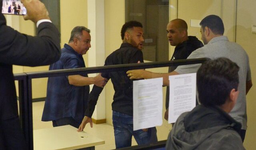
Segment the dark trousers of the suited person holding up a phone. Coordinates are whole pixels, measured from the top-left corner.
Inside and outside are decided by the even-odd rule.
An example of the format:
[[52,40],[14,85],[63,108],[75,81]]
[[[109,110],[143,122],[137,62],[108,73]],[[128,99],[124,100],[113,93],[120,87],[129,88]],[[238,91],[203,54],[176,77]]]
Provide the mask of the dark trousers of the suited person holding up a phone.
[[0,120],[0,150],[28,150],[18,116]]

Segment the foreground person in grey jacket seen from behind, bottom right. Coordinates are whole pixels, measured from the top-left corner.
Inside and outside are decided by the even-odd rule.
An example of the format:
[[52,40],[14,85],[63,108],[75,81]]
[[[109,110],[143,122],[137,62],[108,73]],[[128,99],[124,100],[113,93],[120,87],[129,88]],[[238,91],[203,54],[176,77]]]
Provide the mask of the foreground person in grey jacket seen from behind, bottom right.
[[196,74],[200,105],[178,117],[166,150],[245,150],[241,124],[228,115],[240,92],[238,71],[228,58],[202,64]]

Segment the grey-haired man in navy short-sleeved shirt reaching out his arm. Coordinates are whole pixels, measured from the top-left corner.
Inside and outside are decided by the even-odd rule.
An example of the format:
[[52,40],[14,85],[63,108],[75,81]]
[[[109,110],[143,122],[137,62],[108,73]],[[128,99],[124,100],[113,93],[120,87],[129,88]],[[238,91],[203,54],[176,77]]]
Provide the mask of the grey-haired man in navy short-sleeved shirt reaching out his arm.
[[[62,48],[60,60],[50,65],[49,70],[84,68],[82,55],[91,47],[90,30],[76,26],[70,35],[68,44]],[[90,84],[103,88],[106,79],[100,74],[88,77],[87,74],[48,78],[47,94],[42,121],[52,121],[52,125],[71,125],[79,127],[87,107]]]

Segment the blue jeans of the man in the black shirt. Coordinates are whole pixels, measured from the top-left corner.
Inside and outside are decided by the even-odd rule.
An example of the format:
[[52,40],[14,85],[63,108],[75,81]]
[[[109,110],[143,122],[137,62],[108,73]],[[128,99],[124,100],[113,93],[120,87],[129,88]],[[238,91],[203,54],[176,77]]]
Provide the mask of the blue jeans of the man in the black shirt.
[[133,117],[113,110],[112,114],[116,148],[128,147],[132,145],[134,136],[138,145],[157,142],[156,127],[133,131]]

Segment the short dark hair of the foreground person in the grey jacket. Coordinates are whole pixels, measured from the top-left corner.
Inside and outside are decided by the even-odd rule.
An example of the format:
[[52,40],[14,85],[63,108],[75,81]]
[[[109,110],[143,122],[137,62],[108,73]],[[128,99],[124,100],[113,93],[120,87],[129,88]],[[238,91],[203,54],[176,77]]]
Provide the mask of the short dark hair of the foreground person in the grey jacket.
[[230,91],[238,89],[239,66],[228,58],[209,60],[202,64],[196,74],[199,102],[204,106],[221,106]]

